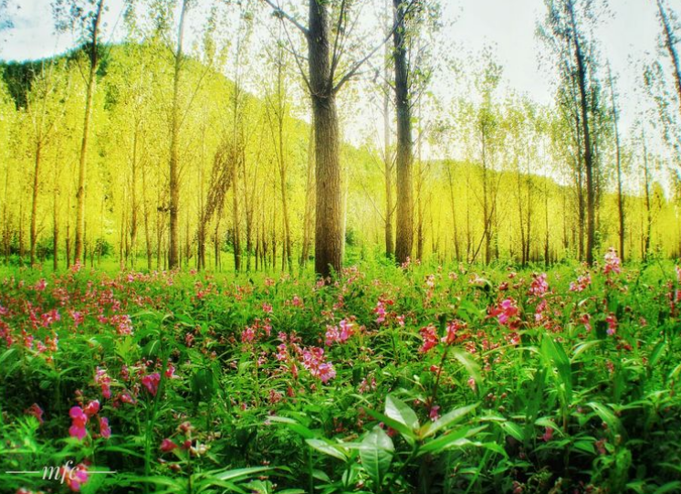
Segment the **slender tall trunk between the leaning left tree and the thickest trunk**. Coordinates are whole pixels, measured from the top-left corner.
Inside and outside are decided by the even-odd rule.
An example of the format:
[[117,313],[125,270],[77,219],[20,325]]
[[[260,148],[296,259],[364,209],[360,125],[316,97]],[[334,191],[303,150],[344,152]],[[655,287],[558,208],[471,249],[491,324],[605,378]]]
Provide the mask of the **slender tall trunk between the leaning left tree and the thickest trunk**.
[[174,54],[173,70],[173,107],[171,116],[170,143],[170,246],[168,267],[178,267],[178,233],[180,221],[180,76],[183,67],[184,17],[187,11],[187,0],[183,0],[180,10],[180,24],[177,30],[177,47]]

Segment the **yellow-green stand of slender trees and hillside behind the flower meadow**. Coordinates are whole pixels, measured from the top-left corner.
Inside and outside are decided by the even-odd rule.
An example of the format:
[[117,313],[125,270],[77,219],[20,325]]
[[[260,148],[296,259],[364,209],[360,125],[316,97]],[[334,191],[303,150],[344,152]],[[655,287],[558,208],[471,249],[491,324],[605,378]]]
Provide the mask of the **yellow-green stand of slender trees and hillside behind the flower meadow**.
[[[542,105],[502,89],[493,47],[448,53],[436,0],[128,0],[115,43],[107,0],[56,0],[80,47],[0,66],[0,254],[322,276],[681,256],[681,19],[650,5],[649,105],[623,131],[605,2],[544,0]],[[380,117],[358,137],[361,101]]]

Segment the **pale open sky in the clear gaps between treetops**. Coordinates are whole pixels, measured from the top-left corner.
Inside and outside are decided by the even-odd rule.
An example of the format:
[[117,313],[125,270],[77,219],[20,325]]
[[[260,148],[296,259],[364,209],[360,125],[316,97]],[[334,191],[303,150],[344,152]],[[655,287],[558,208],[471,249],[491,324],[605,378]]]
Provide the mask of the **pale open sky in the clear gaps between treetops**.
[[[10,1],[14,4],[10,7],[14,27],[0,33],[0,58],[45,58],[75,45],[70,34],[54,32],[51,0]],[[383,0],[365,1],[382,5]],[[123,36],[122,4],[122,0],[107,1],[105,39]],[[16,5],[20,5],[18,10]],[[535,37],[537,22],[545,11],[543,0],[442,0],[442,5],[447,24],[444,36],[451,40],[452,49],[475,54],[491,45],[504,67],[508,88],[527,93],[540,103],[550,102],[552,75],[549,68],[540,67],[538,55],[543,47]],[[646,53],[655,53],[659,26],[655,3],[650,0],[611,0],[610,10],[612,16],[603,22],[597,37],[602,58],[611,62],[613,73],[619,77],[619,92],[630,101],[623,103],[626,129],[634,121],[638,106],[634,93],[640,87],[641,70],[636,63],[650,58]]]

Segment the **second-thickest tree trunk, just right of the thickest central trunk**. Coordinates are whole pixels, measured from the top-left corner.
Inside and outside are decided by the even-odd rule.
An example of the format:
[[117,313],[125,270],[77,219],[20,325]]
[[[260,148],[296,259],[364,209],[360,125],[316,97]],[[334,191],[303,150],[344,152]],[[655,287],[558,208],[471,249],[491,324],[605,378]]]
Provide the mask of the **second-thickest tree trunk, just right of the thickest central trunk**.
[[405,44],[403,0],[393,0],[393,58],[395,63],[395,107],[397,110],[397,237],[395,258],[402,264],[412,255],[414,244],[414,199],[412,191],[412,111],[409,100],[409,73]]

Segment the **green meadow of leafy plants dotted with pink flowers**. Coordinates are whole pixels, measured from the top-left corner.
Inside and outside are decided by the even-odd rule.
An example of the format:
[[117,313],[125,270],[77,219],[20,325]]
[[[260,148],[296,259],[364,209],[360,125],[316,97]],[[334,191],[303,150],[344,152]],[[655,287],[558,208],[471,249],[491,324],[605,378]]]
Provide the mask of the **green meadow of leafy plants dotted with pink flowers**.
[[544,269],[3,268],[0,491],[681,491],[681,269]]

